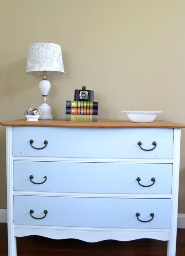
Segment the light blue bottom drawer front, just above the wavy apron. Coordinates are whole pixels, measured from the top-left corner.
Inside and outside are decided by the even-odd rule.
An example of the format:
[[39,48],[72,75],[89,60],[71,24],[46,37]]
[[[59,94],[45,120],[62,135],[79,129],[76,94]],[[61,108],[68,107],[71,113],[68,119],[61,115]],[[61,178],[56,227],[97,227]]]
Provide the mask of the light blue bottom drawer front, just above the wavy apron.
[[[42,218],[47,210],[47,215]],[[154,217],[150,222],[150,213]],[[170,199],[14,196],[14,224],[100,228],[170,228]]]

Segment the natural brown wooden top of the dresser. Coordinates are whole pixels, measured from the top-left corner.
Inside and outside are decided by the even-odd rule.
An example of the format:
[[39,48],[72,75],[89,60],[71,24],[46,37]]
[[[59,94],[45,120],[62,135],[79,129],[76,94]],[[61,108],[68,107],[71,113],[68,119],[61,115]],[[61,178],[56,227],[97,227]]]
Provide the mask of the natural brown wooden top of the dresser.
[[1,122],[5,126],[50,126],[50,127],[101,127],[101,128],[185,128],[185,124],[154,120],[151,123],[133,123],[130,120],[98,120],[97,122],[73,122],[64,119],[27,121],[19,119]]

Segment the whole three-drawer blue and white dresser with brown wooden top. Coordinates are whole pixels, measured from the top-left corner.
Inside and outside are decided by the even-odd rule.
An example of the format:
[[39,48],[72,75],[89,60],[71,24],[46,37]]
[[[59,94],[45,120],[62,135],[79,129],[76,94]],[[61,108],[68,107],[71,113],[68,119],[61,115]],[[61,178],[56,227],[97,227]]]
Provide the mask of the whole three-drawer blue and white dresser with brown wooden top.
[[153,238],[176,254],[180,133],[126,120],[3,122],[8,255],[16,237]]

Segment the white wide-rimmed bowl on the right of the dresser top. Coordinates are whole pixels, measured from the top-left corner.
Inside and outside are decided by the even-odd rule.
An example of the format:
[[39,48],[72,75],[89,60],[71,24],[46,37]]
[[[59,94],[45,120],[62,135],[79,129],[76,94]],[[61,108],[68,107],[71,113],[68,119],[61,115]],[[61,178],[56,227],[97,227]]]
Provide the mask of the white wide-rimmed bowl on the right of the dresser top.
[[127,111],[122,110],[121,112],[126,113],[127,117],[135,123],[150,123],[152,122],[158,113],[163,111]]

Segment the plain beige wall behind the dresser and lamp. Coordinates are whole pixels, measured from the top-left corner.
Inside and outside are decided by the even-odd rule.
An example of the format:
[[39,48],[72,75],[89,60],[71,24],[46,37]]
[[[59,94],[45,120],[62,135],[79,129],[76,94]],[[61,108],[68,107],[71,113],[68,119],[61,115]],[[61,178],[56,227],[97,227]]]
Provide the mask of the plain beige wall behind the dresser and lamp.
[[[65,74],[49,77],[48,103],[64,118],[65,100],[86,85],[100,119],[121,110],[161,110],[185,123],[184,0],[1,0],[0,121],[40,105],[41,77],[25,74],[30,43],[62,47]],[[0,208],[6,208],[5,127],[0,127]],[[185,130],[179,213],[185,213]]]

